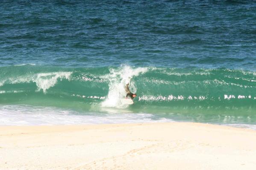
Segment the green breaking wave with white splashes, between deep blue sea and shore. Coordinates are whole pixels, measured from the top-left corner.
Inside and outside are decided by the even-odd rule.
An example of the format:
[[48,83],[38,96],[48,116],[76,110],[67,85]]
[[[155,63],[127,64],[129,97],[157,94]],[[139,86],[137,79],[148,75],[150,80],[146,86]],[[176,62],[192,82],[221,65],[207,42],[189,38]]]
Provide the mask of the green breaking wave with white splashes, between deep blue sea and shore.
[[[256,75],[230,69],[156,67],[1,67],[0,103],[65,108],[79,113],[150,113],[156,118],[197,122],[256,119]],[[118,100],[124,86],[134,105]],[[106,108],[111,108],[109,109]]]

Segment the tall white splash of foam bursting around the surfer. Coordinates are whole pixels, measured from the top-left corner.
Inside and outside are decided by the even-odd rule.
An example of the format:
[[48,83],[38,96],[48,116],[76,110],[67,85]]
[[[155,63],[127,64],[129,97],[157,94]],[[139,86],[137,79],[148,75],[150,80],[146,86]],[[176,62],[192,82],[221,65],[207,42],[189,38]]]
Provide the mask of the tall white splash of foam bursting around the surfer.
[[132,93],[136,93],[137,89],[135,87],[135,82],[131,81],[133,77],[138,76],[147,72],[147,68],[132,68],[130,66],[122,66],[121,68],[111,68],[110,73],[103,76],[109,82],[109,94],[104,102],[102,102],[102,107],[113,107],[113,108],[124,108],[127,105],[122,105],[121,98],[126,95],[125,85],[129,82],[129,89]]

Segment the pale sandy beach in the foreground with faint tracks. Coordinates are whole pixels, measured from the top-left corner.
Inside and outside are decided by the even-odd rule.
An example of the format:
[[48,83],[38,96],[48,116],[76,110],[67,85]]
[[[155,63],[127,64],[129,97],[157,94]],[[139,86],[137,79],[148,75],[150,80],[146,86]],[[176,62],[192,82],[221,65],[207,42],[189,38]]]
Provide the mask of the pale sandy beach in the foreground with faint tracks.
[[1,126],[0,169],[255,170],[256,131],[200,123]]

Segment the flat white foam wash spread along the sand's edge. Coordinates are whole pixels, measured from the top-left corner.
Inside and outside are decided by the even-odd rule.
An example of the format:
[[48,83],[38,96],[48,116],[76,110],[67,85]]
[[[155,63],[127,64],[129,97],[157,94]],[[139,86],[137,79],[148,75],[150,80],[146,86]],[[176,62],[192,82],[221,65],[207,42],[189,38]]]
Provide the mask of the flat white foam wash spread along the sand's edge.
[[147,113],[78,113],[54,107],[4,105],[0,125],[79,125],[140,122],[173,122]]

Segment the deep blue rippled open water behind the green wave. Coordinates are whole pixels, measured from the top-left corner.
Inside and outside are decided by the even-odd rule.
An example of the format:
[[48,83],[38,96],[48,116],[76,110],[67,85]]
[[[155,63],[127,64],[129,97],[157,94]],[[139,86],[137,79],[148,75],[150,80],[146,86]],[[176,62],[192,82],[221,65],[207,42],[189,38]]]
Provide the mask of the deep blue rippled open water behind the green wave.
[[255,71],[256,1],[1,1],[0,65]]

